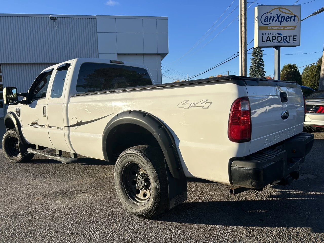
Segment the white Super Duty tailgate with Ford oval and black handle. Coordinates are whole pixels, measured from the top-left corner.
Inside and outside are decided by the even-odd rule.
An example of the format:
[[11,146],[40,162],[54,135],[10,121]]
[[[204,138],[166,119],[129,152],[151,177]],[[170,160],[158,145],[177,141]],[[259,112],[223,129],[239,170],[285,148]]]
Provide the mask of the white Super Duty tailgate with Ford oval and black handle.
[[246,86],[252,118],[249,154],[303,131],[304,99],[300,87],[285,83],[278,86],[278,83],[277,86]]

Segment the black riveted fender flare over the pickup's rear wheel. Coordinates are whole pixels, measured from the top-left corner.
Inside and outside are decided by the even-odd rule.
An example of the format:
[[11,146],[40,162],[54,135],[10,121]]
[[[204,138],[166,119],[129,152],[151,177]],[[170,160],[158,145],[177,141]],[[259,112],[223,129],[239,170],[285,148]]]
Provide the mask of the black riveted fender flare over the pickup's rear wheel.
[[[102,152],[106,161],[114,161],[111,146],[108,144],[118,125],[135,124],[145,128],[157,140],[162,148],[168,168],[174,178],[184,178],[184,173],[169,129],[155,116],[141,110],[127,110],[115,115],[106,125],[102,135]],[[107,143],[108,141],[108,143]]]

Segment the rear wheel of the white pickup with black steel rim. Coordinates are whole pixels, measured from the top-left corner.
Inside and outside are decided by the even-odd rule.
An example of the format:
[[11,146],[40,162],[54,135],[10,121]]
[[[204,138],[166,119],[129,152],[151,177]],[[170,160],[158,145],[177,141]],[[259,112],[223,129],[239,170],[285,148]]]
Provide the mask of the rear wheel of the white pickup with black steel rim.
[[168,208],[168,179],[161,149],[148,145],[126,149],[117,159],[114,179],[121,203],[132,214],[148,219]]

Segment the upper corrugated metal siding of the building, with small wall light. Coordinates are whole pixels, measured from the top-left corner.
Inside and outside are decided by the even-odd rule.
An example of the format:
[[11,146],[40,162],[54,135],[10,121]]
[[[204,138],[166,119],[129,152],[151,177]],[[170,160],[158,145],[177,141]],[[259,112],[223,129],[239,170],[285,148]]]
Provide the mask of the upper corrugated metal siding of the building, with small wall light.
[[98,58],[96,18],[0,16],[0,63]]

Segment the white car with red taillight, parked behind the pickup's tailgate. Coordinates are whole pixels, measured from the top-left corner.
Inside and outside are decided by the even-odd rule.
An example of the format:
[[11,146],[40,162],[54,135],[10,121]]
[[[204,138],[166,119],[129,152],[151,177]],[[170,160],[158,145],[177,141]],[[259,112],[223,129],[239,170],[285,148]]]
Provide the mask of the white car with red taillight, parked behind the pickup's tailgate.
[[310,132],[324,132],[324,91],[319,90],[306,97],[304,127]]

